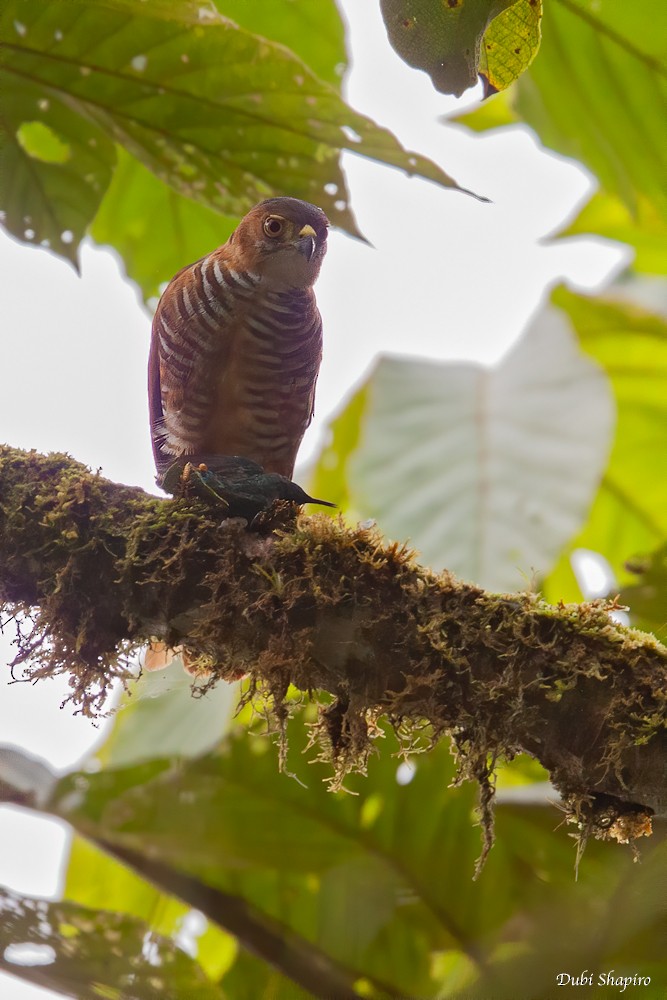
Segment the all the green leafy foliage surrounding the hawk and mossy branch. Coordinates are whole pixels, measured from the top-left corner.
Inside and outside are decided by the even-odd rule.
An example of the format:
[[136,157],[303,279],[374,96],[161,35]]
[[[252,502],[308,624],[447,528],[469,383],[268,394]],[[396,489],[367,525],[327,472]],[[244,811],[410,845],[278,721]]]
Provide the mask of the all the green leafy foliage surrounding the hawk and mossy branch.
[[[667,324],[641,291],[665,274],[667,13],[621,0],[548,0],[541,19],[522,0],[469,6],[453,41],[440,26],[447,59],[414,38],[402,54],[441,89],[461,92],[478,72],[502,89],[459,122],[525,122],[585,164],[599,190],[566,232],[622,240],[634,262],[604,298],[557,290],[494,369],[379,359],[334,420],[311,491],[491,588],[532,582],[578,600],[572,554],[591,550],[633,620],[664,636]],[[399,52],[392,17],[412,31],[441,11],[382,8]],[[3,224],[73,263],[92,234],[146,298],[274,192],[358,234],[343,149],[454,184],[346,105],[333,0],[7,0],[0,39]],[[397,440],[402,462],[386,453]],[[286,952],[323,953],[350,995],[550,996],[556,973],[583,968],[649,975],[642,995],[664,995],[659,837],[641,866],[590,845],[575,882],[544,775],[519,761],[501,771],[498,840],[473,883],[474,789],[448,787],[444,743],[410,770],[385,735],[368,777],[349,779],[354,794],[331,794],[303,753],[303,717],[279,774],[247,710],[229,721],[230,692],[193,700],[185,679],[159,686],[139,682],[99,773],[33,777],[40,808],[78,836],[63,902],[0,900],[3,944],[55,959],[19,966],[5,951],[3,968],[79,997],[312,995],[239,944],[215,889],[258,926],[270,918]],[[320,995],[332,995],[326,973]]]

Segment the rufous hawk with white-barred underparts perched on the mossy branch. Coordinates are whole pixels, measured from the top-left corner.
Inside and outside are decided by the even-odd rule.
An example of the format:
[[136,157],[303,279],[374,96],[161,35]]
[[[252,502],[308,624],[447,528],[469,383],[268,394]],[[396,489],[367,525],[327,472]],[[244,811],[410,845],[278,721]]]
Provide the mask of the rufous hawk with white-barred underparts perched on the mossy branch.
[[148,364],[158,481],[197,453],[243,456],[291,480],[322,357],[313,285],[327,227],[315,205],[269,198],[172,278]]

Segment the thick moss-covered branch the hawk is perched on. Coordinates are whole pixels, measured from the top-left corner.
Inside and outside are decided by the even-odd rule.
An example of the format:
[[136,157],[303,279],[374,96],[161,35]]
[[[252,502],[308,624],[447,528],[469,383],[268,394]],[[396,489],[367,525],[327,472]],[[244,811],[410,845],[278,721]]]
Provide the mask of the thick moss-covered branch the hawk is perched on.
[[406,740],[424,720],[434,738],[452,734],[483,814],[494,762],[525,751],[585,834],[633,839],[667,816],[667,649],[604,602],[486,593],[323,516],[259,535],[10,448],[0,600],[34,622],[15,666],[67,672],[87,713],[157,636],[215,679],[249,673],[279,721],[290,684],[329,692],[317,736],[340,773],[363,767],[386,714]]

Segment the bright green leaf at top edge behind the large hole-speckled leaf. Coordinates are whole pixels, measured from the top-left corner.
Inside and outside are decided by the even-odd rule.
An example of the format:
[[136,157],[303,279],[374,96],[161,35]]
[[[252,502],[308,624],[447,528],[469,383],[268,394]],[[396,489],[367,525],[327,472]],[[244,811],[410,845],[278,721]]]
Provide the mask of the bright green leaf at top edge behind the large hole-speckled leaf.
[[347,52],[335,0],[216,0],[216,6],[246,31],[291,49],[320,80],[340,89]]

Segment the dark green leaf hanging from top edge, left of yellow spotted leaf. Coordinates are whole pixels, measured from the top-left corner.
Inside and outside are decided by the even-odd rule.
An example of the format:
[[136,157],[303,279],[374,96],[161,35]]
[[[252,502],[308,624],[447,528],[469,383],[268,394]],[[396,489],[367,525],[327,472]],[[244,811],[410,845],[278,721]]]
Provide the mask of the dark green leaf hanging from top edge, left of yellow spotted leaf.
[[460,97],[477,82],[482,37],[516,0],[380,0],[393,48],[436,90]]

